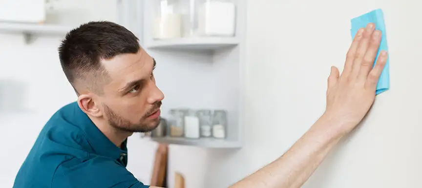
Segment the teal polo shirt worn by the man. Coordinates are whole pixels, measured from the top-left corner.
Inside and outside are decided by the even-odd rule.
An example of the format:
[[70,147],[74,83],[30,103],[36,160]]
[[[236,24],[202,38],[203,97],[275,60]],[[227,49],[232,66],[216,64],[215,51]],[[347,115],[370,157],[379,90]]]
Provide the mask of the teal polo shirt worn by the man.
[[117,147],[67,104],[42,128],[13,188],[148,188],[126,169],[126,143]]

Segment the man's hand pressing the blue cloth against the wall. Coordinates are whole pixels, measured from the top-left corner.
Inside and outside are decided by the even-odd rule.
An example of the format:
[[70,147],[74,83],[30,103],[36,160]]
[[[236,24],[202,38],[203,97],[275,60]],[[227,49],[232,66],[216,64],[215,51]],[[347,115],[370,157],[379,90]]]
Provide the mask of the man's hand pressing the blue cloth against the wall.
[[328,78],[325,116],[338,122],[336,130],[348,133],[366,115],[374,103],[375,92],[387,53],[382,51],[373,68],[381,41],[381,32],[370,23],[359,29],[346,55],[344,69],[331,67]]

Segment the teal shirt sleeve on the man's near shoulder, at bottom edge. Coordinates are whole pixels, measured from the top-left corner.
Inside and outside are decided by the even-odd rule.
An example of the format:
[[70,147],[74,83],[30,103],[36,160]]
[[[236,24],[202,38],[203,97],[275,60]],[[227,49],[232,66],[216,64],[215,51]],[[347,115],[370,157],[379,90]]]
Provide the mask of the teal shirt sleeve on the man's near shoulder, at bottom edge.
[[86,161],[73,158],[60,165],[52,188],[149,188],[112,159],[95,157]]

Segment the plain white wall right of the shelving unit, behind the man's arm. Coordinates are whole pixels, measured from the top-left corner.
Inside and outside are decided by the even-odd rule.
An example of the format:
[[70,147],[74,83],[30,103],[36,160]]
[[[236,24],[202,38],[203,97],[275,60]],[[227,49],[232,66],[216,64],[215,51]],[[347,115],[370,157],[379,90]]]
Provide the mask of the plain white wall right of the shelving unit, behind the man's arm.
[[[231,180],[279,157],[325,104],[331,65],[342,67],[350,19],[382,8],[390,47],[391,90],[339,144],[305,188],[420,188],[422,155],[417,0],[248,0],[246,146]],[[224,174],[229,175],[229,173]]]

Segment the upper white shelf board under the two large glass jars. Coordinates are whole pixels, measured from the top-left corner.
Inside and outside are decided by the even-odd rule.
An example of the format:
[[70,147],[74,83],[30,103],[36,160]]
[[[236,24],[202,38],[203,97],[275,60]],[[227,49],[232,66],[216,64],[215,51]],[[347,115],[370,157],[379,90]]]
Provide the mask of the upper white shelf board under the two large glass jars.
[[182,50],[216,50],[236,46],[239,40],[235,37],[204,37],[152,40],[146,47],[150,49],[182,49]]

